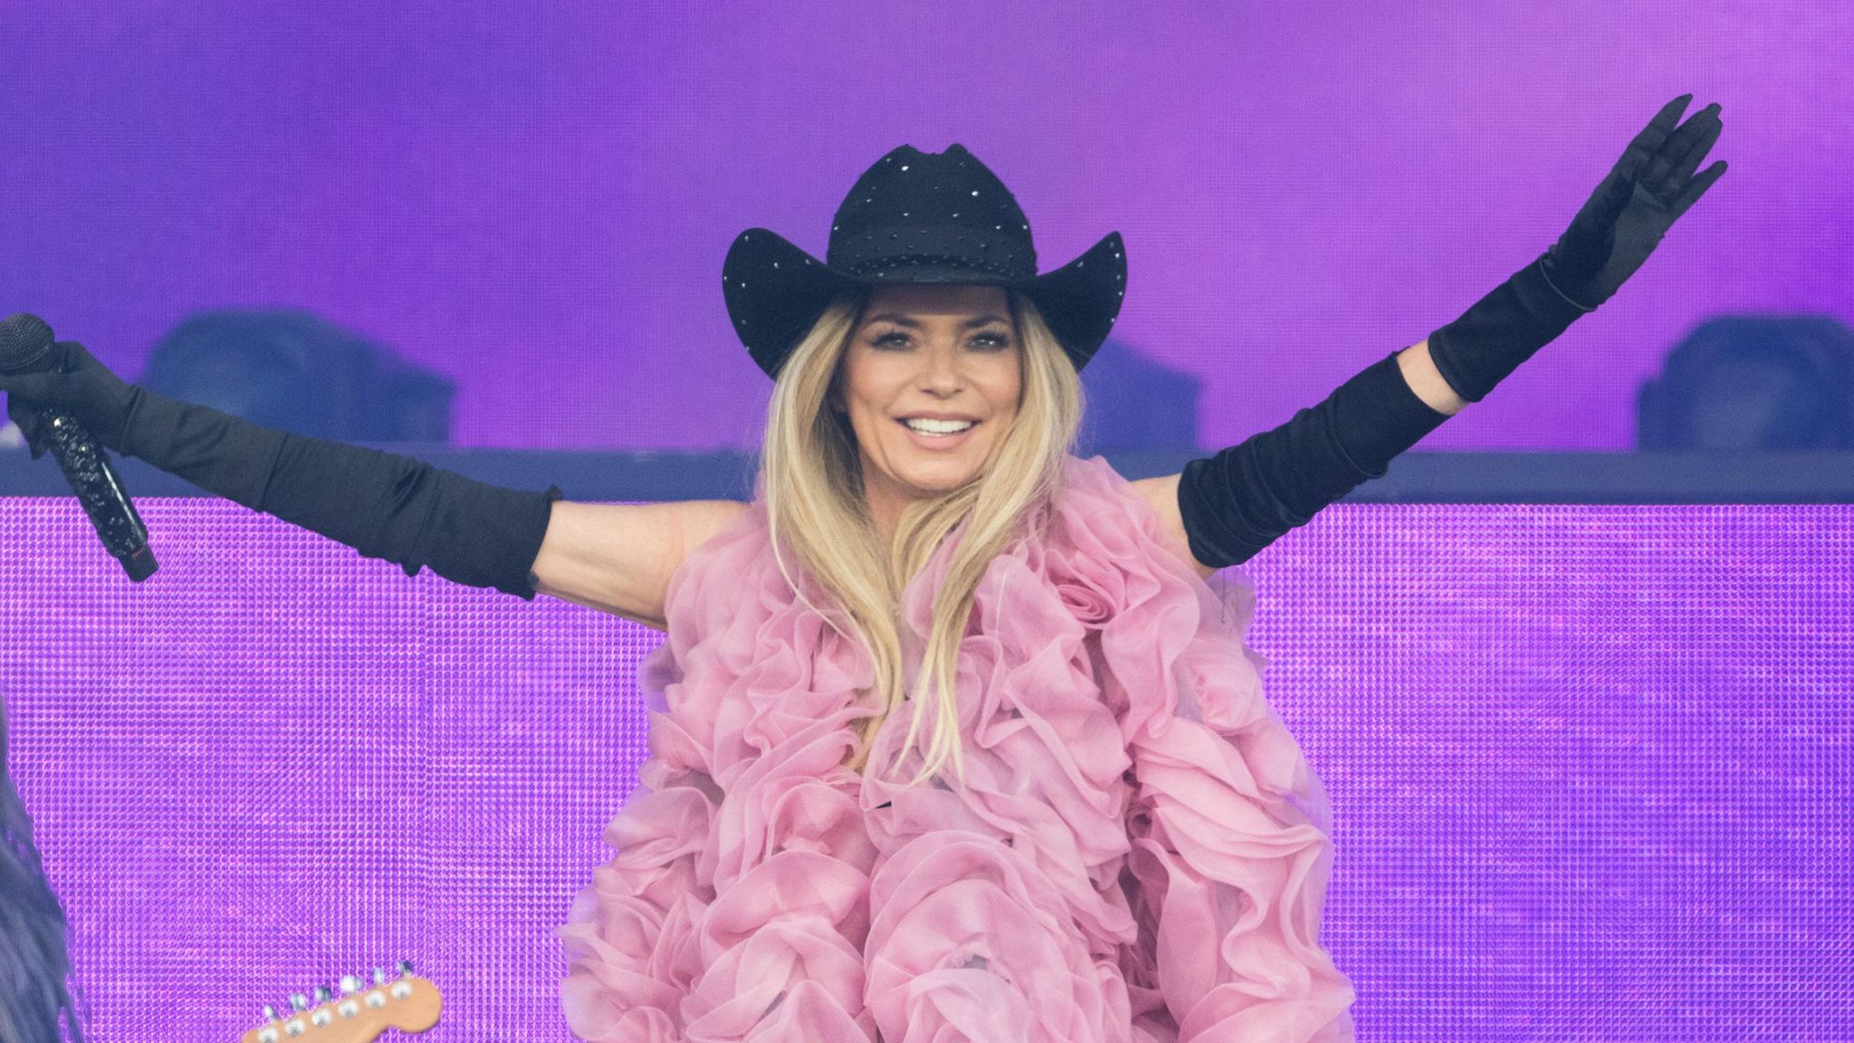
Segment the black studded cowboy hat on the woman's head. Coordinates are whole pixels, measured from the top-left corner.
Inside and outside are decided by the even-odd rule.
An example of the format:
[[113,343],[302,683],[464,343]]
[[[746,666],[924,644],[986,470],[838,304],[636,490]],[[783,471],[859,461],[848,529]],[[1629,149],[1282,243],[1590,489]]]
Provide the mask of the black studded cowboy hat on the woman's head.
[[1036,303],[1079,371],[1120,314],[1127,290],[1120,232],[1036,275],[1031,225],[1018,200],[964,145],[903,145],[857,178],[831,221],[825,260],[768,228],[727,249],[721,291],[734,332],[769,377],[844,290],[890,282],[968,282],[1018,290]]

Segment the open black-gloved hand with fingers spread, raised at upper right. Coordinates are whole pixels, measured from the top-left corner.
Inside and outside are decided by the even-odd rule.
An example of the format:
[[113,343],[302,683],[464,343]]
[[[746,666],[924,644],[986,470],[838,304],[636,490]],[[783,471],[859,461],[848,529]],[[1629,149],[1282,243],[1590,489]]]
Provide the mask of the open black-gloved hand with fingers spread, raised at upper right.
[[1674,221],[1726,173],[1721,160],[1693,174],[1724,124],[1713,102],[1674,130],[1691,100],[1680,95],[1661,106],[1548,251],[1544,273],[1552,286],[1585,310],[1613,297]]

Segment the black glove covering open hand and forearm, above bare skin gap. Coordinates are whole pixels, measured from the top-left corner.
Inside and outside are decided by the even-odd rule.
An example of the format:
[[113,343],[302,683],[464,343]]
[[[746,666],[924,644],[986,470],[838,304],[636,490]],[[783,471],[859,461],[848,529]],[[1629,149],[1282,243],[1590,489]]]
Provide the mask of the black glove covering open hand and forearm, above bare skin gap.
[[1726,173],[1721,160],[1695,176],[1722,124],[1711,104],[1674,130],[1689,100],[1663,106],[1630,141],[1552,249],[1429,334],[1429,358],[1457,395],[1481,401],[1578,315],[1609,301]]

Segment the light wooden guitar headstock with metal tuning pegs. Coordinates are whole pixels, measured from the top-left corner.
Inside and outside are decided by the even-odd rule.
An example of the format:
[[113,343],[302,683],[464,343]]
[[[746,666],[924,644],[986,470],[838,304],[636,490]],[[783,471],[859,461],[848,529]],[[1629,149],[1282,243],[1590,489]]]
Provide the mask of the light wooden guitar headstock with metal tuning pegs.
[[269,1004],[263,1008],[263,1024],[239,1036],[239,1043],[373,1043],[387,1028],[400,1032],[425,1032],[438,1024],[443,998],[438,985],[412,972],[412,963],[404,959],[397,965],[399,976],[387,978],[380,967],[373,969],[373,984],[362,982],[354,974],[341,978],[341,995],[328,985],[317,985],[313,1004],[310,997],[293,993],[289,1010],[282,1015]]

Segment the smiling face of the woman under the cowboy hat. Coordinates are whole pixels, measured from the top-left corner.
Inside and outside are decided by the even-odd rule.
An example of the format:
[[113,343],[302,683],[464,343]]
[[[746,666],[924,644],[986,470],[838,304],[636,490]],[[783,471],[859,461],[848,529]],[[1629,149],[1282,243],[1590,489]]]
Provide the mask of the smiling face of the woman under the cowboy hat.
[[[1018,412],[1022,347],[999,286],[877,286],[842,364],[842,401],[877,518],[975,477]],[[914,431],[905,418],[970,421]]]

